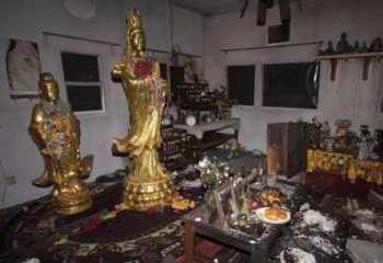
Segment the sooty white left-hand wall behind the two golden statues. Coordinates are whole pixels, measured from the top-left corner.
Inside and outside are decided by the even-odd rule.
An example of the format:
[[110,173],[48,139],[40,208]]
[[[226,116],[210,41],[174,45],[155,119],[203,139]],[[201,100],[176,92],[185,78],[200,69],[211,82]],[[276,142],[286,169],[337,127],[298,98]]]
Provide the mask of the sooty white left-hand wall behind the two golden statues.
[[[5,176],[14,175],[15,185],[9,185],[0,207],[32,199],[49,188],[33,186],[31,181],[43,172],[43,160],[33,144],[27,126],[37,100],[11,100],[5,70],[5,54],[10,38],[38,44],[42,71],[51,72],[66,100],[60,52],[69,50],[98,55],[105,92],[105,113],[80,114],[82,156],[93,153],[94,165],[88,182],[103,173],[123,167],[121,158],[111,153],[112,139],[127,132],[127,101],[120,83],[111,80],[111,70],[123,52],[121,47],[84,41],[44,36],[42,31],[125,45],[125,12],[137,8],[142,13],[147,47],[167,49],[167,19],[164,1],[95,0],[95,15],[88,20],[72,16],[59,0],[3,0],[0,2],[0,160]],[[183,52],[205,55],[206,20],[186,10],[174,8],[174,39]],[[192,41],[194,41],[192,43]],[[156,54],[154,54],[156,55]],[[159,56],[166,61],[166,56]],[[204,61],[200,59],[200,64]],[[37,87],[37,83],[36,83]],[[2,171],[0,170],[0,173]],[[0,195],[5,182],[0,176]],[[0,201],[1,202],[1,201]]]

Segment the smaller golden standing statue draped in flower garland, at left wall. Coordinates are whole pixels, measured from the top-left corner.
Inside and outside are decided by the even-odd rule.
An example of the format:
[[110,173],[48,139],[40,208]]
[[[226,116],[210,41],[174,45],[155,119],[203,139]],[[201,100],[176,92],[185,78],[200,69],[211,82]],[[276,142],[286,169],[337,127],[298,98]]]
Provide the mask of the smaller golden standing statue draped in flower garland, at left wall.
[[53,209],[71,215],[91,207],[90,191],[82,178],[89,176],[93,156],[80,158],[80,123],[68,103],[60,100],[58,84],[50,73],[39,78],[40,102],[33,108],[30,134],[45,164],[33,181],[37,186],[53,184]]

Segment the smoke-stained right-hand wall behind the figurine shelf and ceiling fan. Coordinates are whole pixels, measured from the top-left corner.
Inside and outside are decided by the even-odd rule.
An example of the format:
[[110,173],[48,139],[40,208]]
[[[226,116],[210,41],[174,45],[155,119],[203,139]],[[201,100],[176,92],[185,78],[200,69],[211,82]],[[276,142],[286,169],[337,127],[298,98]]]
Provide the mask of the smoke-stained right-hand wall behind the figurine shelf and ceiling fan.
[[[380,0],[306,0],[303,12],[297,3],[291,4],[290,43],[333,41],[334,45],[343,32],[349,43],[382,37],[383,2]],[[279,7],[267,10],[267,24],[256,25],[256,10],[247,10],[240,20],[240,13],[230,13],[208,19],[208,79],[210,88],[227,84],[228,65],[256,65],[255,106],[237,106],[233,114],[241,117],[240,142],[247,149],[266,150],[268,123],[290,122],[299,118],[334,124],[336,118],[347,117],[352,129],[360,124],[373,128],[383,127],[382,115],[378,114],[382,96],[383,66],[373,60],[369,80],[362,81],[363,60],[338,61],[337,79],[329,81],[329,62],[322,62],[320,102],[317,110],[267,108],[262,106],[262,66],[272,62],[313,61],[317,45],[276,47],[227,55],[220,49],[267,45],[267,27],[280,24]],[[322,48],[325,48],[324,45]]]

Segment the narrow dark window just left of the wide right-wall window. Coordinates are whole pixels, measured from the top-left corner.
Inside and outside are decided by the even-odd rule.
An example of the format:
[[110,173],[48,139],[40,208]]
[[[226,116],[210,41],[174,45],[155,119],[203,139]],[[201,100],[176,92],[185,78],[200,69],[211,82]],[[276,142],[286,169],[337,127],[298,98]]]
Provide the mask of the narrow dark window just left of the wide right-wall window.
[[255,65],[228,66],[229,99],[239,105],[254,105]]

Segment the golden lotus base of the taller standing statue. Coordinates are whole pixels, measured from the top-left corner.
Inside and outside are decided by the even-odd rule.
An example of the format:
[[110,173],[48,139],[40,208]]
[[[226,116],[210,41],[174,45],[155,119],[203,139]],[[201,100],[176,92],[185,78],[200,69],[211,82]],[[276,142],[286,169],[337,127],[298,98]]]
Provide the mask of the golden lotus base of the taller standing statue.
[[128,209],[146,210],[153,206],[171,205],[176,196],[174,182],[170,176],[148,182],[125,178],[123,199]]

